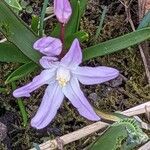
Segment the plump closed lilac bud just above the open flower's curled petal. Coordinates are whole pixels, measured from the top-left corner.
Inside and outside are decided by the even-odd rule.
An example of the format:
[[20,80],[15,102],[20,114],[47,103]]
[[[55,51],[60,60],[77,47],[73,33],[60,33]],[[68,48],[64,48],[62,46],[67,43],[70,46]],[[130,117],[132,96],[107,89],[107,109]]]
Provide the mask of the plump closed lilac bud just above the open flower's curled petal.
[[62,51],[62,43],[60,39],[53,37],[42,37],[37,40],[33,48],[47,56],[59,55]]

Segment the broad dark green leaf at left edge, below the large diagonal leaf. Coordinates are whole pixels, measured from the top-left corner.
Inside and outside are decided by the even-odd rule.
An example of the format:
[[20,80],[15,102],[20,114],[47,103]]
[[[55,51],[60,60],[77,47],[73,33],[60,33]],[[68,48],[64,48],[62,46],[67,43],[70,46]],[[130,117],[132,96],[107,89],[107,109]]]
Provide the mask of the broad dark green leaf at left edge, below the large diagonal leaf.
[[0,62],[28,63],[30,59],[25,56],[14,44],[0,43]]

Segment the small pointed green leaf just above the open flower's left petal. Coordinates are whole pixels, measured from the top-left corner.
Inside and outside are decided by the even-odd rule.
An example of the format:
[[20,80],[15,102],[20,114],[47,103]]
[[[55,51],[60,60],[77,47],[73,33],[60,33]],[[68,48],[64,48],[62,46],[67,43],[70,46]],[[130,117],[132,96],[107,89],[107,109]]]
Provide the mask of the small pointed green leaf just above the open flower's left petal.
[[38,68],[38,65],[36,65],[33,62],[29,62],[27,64],[22,65],[18,69],[16,69],[13,73],[10,74],[10,76],[6,79],[5,83],[11,83],[13,81],[19,80],[22,77],[28,75],[29,73],[35,71],[35,69]]

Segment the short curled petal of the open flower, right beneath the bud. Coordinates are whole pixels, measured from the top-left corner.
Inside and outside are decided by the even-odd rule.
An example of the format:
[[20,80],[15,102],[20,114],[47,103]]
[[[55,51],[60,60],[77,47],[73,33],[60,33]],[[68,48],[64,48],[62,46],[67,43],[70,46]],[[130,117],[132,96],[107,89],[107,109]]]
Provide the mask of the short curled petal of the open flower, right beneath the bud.
[[40,64],[45,69],[56,68],[58,64],[57,61],[58,61],[58,58],[56,57],[43,56],[40,59]]

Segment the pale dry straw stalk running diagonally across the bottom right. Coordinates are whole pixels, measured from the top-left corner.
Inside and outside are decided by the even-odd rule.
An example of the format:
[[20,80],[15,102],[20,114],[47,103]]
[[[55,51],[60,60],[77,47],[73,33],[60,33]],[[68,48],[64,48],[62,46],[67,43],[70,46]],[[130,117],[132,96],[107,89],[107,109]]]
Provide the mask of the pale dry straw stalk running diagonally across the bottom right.
[[[127,116],[133,116],[133,115],[139,115],[139,114],[143,114],[146,113],[145,110],[145,106],[147,106],[147,111],[150,111],[150,102],[135,106],[133,108],[130,108],[124,112],[122,112],[122,114],[127,115]],[[79,129],[77,131],[74,131],[72,133],[66,134],[61,136],[59,139],[62,141],[62,143],[64,145],[69,144],[71,142],[77,141],[85,136],[88,136],[96,131],[99,131],[100,129],[104,129],[106,127],[108,127],[108,123],[99,121],[96,123],[93,123],[91,125],[88,125],[82,129]],[[148,128],[148,125],[146,123],[141,123],[141,125],[143,126],[143,128]],[[41,150],[54,150],[58,148],[58,143],[57,140],[49,140],[43,144],[39,145]],[[36,150],[35,148],[32,148],[31,150]]]

